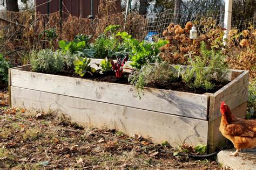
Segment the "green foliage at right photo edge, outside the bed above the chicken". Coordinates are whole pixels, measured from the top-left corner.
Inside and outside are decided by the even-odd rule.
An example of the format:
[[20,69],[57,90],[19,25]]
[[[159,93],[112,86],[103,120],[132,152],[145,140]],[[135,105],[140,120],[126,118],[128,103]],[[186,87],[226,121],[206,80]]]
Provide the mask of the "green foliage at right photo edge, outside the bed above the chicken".
[[256,79],[249,83],[246,118],[256,117]]

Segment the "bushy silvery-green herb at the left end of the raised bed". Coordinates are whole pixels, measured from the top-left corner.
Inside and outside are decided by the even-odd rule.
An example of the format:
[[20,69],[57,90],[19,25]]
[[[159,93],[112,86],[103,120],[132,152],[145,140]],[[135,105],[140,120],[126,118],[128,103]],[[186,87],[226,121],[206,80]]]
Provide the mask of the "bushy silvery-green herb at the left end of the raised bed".
[[33,71],[41,73],[58,73],[64,69],[63,55],[51,49],[42,49],[39,52],[31,52],[31,66]]

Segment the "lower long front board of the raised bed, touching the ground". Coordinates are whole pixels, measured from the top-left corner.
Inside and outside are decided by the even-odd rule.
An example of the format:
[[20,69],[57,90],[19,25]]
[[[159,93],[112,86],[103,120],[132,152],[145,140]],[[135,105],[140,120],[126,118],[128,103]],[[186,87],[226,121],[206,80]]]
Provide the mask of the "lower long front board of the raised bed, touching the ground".
[[207,121],[17,87],[11,93],[12,107],[57,110],[80,124],[140,134],[155,143],[207,144]]

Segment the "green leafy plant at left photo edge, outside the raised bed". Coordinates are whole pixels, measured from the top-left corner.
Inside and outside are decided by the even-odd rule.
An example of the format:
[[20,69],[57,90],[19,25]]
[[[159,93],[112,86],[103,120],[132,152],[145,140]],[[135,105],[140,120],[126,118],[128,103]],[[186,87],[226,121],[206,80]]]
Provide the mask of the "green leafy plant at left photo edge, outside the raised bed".
[[2,83],[8,82],[8,69],[11,67],[8,60],[6,60],[3,54],[0,53],[0,81]]

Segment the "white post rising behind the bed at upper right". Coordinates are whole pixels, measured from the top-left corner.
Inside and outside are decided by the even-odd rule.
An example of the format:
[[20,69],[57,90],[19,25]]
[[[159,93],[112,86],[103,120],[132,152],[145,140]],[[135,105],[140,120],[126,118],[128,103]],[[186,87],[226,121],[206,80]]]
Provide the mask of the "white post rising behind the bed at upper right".
[[223,42],[226,44],[226,40],[228,38],[228,32],[231,30],[231,16],[232,16],[232,4],[233,0],[225,0],[225,16],[224,16],[224,36]]

